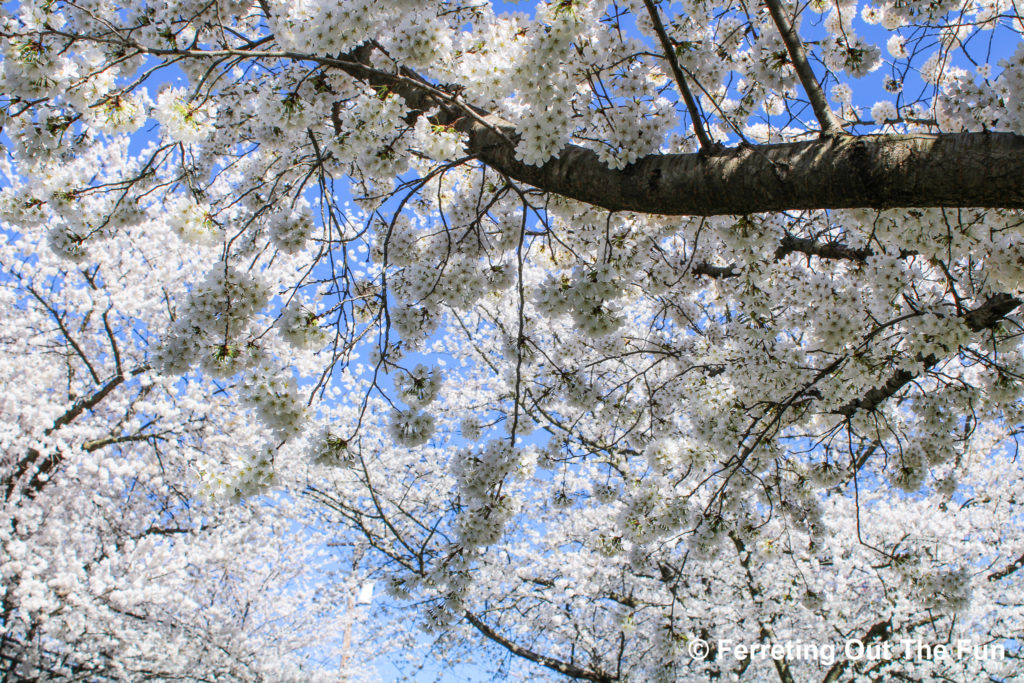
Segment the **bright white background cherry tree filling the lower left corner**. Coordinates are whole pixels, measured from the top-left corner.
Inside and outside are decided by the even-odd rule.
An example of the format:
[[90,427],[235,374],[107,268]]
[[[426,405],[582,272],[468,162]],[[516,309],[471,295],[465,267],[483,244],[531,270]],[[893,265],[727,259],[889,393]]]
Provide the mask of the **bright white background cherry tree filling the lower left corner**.
[[0,671],[310,681],[344,660],[358,680],[372,657],[337,535],[302,499],[210,496],[221,473],[250,485],[260,470],[236,461],[272,436],[229,392],[154,370],[148,338],[204,254],[145,229],[88,263],[0,238]]

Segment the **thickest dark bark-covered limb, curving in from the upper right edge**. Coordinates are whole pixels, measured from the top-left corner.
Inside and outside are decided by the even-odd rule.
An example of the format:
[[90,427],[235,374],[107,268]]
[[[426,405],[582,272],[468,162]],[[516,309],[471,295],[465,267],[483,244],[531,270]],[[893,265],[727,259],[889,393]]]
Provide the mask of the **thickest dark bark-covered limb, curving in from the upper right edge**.
[[400,95],[415,111],[437,110],[484,164],[535,187],[611,211],[728,215],[810,209],[1024,208],[1024,137],[1012,133],[828,136],[714,153],[650,155],[622,170],[597,153],[566,145],[530,166],[516,159],[518,134],[500,117],[403,70],[330,60],[353,78]]

